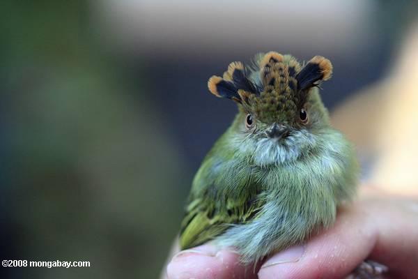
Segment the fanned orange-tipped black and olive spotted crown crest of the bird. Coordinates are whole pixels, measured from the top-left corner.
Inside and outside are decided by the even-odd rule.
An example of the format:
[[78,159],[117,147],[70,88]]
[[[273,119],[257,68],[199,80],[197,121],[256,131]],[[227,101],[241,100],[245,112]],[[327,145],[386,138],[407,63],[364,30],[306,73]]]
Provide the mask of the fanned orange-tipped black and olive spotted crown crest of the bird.
[[255,68],[230,63],[223,77],[210,77],[208,87],[215,96],[234,100],[258,119],[284,120],[292,119],[307,101],[310,89],[331,74],[332,64],[323,56],[301,66],[291,55],[268,52],[256,56]]

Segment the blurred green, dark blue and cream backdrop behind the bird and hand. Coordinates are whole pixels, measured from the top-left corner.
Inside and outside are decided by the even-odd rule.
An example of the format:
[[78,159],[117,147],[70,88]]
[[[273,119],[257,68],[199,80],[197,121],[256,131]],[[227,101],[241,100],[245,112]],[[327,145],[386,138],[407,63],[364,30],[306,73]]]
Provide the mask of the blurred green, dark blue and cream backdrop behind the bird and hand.
[[256,52],[329,58],[363,181],[416,189],[417,1],[224,2],[1,3],[1,259],[91,262],[1,278],[157,278],[236,112],[208,77]]

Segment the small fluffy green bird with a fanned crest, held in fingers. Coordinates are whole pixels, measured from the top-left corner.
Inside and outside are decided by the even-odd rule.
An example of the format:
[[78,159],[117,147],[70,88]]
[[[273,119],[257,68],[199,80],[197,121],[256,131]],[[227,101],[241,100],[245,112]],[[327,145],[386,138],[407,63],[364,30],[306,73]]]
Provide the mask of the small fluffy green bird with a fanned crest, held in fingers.
[[182,249],[212,241],[245,264],[332,225],[359,173],[318,93],[331,62],[315,56],[301,66],[268,52],[255,63],[233,62],[210,77],[210,92],[235,101],[238,114],[194,177],[180,230]]

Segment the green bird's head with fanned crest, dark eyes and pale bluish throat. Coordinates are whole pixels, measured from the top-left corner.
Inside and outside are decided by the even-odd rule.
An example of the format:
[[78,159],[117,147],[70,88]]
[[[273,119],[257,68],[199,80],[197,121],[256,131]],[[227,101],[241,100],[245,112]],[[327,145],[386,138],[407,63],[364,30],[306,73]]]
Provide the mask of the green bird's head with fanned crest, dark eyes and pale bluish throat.
[[234,100],[238,116],[230,144],[257,165],[286,163],[311,153],[330,123],[318,93],[332,74],[332,64],[315,56],[306,65],[291,55],[258,54],[256,66],[229,64],[223,77],[208,81],[211,93]]

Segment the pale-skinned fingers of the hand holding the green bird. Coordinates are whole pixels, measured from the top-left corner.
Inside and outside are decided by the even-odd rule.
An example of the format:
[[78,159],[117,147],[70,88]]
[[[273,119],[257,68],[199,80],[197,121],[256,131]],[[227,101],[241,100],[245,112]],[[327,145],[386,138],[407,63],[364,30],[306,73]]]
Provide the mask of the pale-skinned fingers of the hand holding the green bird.
[[356,201],[339,209],[332,228],[268,257],[255,273],[239,264],[232,249],[217,251],[209,243],[178,250],[175,244],[162,278],[345,278],[364,259],[388,266],[383,278],[418,278],[418,195],[360,187]]

